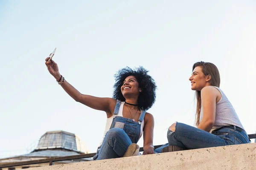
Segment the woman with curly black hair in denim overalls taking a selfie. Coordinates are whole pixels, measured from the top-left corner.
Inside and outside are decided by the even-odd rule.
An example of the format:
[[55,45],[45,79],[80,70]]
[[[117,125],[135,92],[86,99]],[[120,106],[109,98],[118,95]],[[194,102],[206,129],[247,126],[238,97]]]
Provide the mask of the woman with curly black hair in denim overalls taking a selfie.
[[115,74],[113,98],[100,98],[81,94],[59,73],[58,65],[47,57],[45,64],[58,84],[77,102],[105,111],[105,134],[93,160],[139,155],[136,144],[143,133],[143,154],[154,153],[154,118],[146,110],[156,98],[156,84],[143,67],[120,69]]

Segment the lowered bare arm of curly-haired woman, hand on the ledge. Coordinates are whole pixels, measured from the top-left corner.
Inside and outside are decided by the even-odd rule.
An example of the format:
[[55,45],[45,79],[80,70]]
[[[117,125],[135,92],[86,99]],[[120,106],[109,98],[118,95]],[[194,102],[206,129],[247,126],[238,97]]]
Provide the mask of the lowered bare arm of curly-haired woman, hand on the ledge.
[[150,113],[145,115],[145,125],[143,129],[143,155],[154,153],[153,133],[154,133],[154,117]]

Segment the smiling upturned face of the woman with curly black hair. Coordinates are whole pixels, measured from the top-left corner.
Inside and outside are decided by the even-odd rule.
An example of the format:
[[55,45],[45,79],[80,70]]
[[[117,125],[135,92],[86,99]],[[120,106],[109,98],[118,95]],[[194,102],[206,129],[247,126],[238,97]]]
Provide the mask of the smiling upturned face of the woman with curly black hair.
[[134,76],[128,76],[123,82],[121,91],[125,99],[129,96],[138,97],[141,92],[139,82],[137,82],[137,79]]

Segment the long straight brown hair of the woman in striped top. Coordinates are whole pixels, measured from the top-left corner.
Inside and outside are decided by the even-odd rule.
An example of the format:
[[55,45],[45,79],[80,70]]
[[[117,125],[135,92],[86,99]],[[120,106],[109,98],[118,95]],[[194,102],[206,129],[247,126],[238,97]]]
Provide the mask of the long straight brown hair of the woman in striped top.
[[[219,88],[221,84],[221,77],[216,65],[212,64],[211,62],[203,62],[203,61],[196,62],[193,65],[192,71],[198,66],[202,68],[204,76],[209,75],[211,77],[209,81],[210,85],[216,86]],[[200,113],[201,113],[201,106],[202,106],[201,91],[195,91],[195,97],[197,99],[195,125],[198,126],[200,121]]]

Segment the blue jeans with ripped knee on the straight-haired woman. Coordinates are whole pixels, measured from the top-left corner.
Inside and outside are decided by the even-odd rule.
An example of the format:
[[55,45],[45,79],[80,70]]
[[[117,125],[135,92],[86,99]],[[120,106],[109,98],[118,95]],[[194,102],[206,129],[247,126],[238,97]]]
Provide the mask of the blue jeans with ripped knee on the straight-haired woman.
[[179,146],[185,150],[188,150],[250,143],[247,133],[243,129],[236,126],[223,127],[209,133],[196,127],[178,122],[176,123],[176,129],[174,132],[168,129],[167,139],[167,144],[164,144],[154,151],[161,153],[161,150],[164,147],[170,145]]

